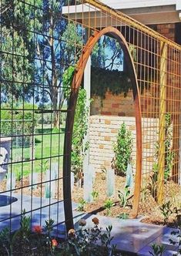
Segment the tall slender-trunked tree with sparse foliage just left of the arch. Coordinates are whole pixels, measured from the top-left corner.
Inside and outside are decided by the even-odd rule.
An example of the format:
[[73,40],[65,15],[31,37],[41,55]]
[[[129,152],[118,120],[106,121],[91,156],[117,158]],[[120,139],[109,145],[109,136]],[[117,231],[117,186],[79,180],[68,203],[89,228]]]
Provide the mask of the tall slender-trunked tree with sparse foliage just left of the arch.
[[[45,84],[39,86],[52,102],[53,125],[59,127],[59,109],[65,97],[62,75],[69,66],[75,66],[82,48],[82,30],[62,19],[63,1],[44,1],[44,25],[42,39],[37,40],[39,73]],[[72,47],[73,45],[73,47]]]

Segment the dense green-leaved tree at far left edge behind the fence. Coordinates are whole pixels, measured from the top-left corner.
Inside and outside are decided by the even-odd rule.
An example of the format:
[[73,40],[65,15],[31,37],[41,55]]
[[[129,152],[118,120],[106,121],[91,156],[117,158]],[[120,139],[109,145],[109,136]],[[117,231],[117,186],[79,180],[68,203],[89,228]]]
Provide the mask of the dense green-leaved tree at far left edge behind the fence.
[[14,0],[13,5],[11,0],[2,0],[0,11],[1,100],[11,105],[21,100],[29,101],[34,94],[32,34],[24,30],[30,31],[32,22],[28,15],[28,18],[23,19],[23,13],[32,12],[32,7],[28,8],[28,5],[17,0]]

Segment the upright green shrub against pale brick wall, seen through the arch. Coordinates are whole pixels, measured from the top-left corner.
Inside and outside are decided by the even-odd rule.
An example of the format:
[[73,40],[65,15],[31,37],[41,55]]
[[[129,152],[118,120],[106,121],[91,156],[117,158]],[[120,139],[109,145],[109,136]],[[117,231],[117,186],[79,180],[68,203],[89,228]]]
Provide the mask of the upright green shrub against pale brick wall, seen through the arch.
[[117,136],[117,141],[113,145],[115,157],[112,160],[112,167],[119,175],[126,175],[126,168],[130,162],[132,153],[132,132],[126,130],[126,124],[122,123]]

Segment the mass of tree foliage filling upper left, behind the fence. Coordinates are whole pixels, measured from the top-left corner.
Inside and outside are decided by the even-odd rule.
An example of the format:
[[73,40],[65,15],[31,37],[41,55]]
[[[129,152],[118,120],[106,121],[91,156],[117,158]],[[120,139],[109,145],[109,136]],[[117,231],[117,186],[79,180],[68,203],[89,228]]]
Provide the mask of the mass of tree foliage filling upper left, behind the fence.
[[2,51],[8,52],[2,53],[2,77],[9,81],[2,85],[3,100],[9,101],[7,95],[12,93],[16,100],[33,96],[42,108],[51,102],[55,127],[59,127],[59,109],[65,100],[62,74],[75,66],[82,49],[83,29],[62,19],[64,4],[64,0],[27,0],[25,4],[15,0],[12,5],[2,0]]

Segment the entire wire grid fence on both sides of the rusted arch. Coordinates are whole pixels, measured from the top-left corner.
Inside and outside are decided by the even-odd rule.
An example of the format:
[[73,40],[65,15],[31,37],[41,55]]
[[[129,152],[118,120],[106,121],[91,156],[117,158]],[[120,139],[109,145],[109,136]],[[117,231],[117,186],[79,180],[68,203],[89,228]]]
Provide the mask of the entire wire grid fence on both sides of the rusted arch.
[[[0,214],[1,223],[8,224],[11,230],[15,227],[16,217],[21,217],[25,208],[27,195],[30,200],[25,210],[32,219],[34,214],[38,214],[36,221],[39,224],[42,224],[44,211],[52,217],[55,209],[55,223],[64,221],[62,204],[59,204],[63,201],[62,180],[67,178],[62,177],[62,159],[66,157],[63,155],[65,123],[59,121],[60,115],[67,113],[62,76],[69,66],[76,66],[85,50],[86,39],[108,26],[116,27],[130,49],[134,49],[132,59],[142,92],[139,95],[142,109],[142,187],[152,181],[153,196],[162,202],[166,180],[179,182],[180,177],[180,46],[99,1],[14,0],[8,8],[6,4],[2,1],[0,119],[3,111],[10,113],[12,127],[10,135],[5,136],[12,139],[21,137],[22,144],[29,136],[33,146],[32,157],[26,157],[27,149],[22,145],[22,159],[17,161],[12,157],[15,148],[11,140],[11,159],[7,163],[11,186],[7,189],[2,182],[1,195],[19,195],[20,211],[15,214],[15,204],[10,204],[6,214]],[[69,36],[69,32],[74,36]],[[21,113],[23,122],[21,133],[15,134],[13,120],[18,113]],[[25,116],[34,120],[36,113],[42,116],[39,132],[36,124],[33,130],[25,126]],[[47,114],[49,127],[43,121]],[[52,175],[52,169],[57,165],[52,167],[52,163],[58,163],[55,175]],[[50,171],[45,177],[47,170]],[[14,172],[20,174],[12,188]],[[168,177],[164,176],[166,172]],[[35,183],[33,173],[38,173]],[[29,174],[32,180],[28,180]],[[44,200],[46,184],[55,186],[54,198]],[[34,190],[35,186],[38,192]],[[68,200],[67,204],[71,202]]]

